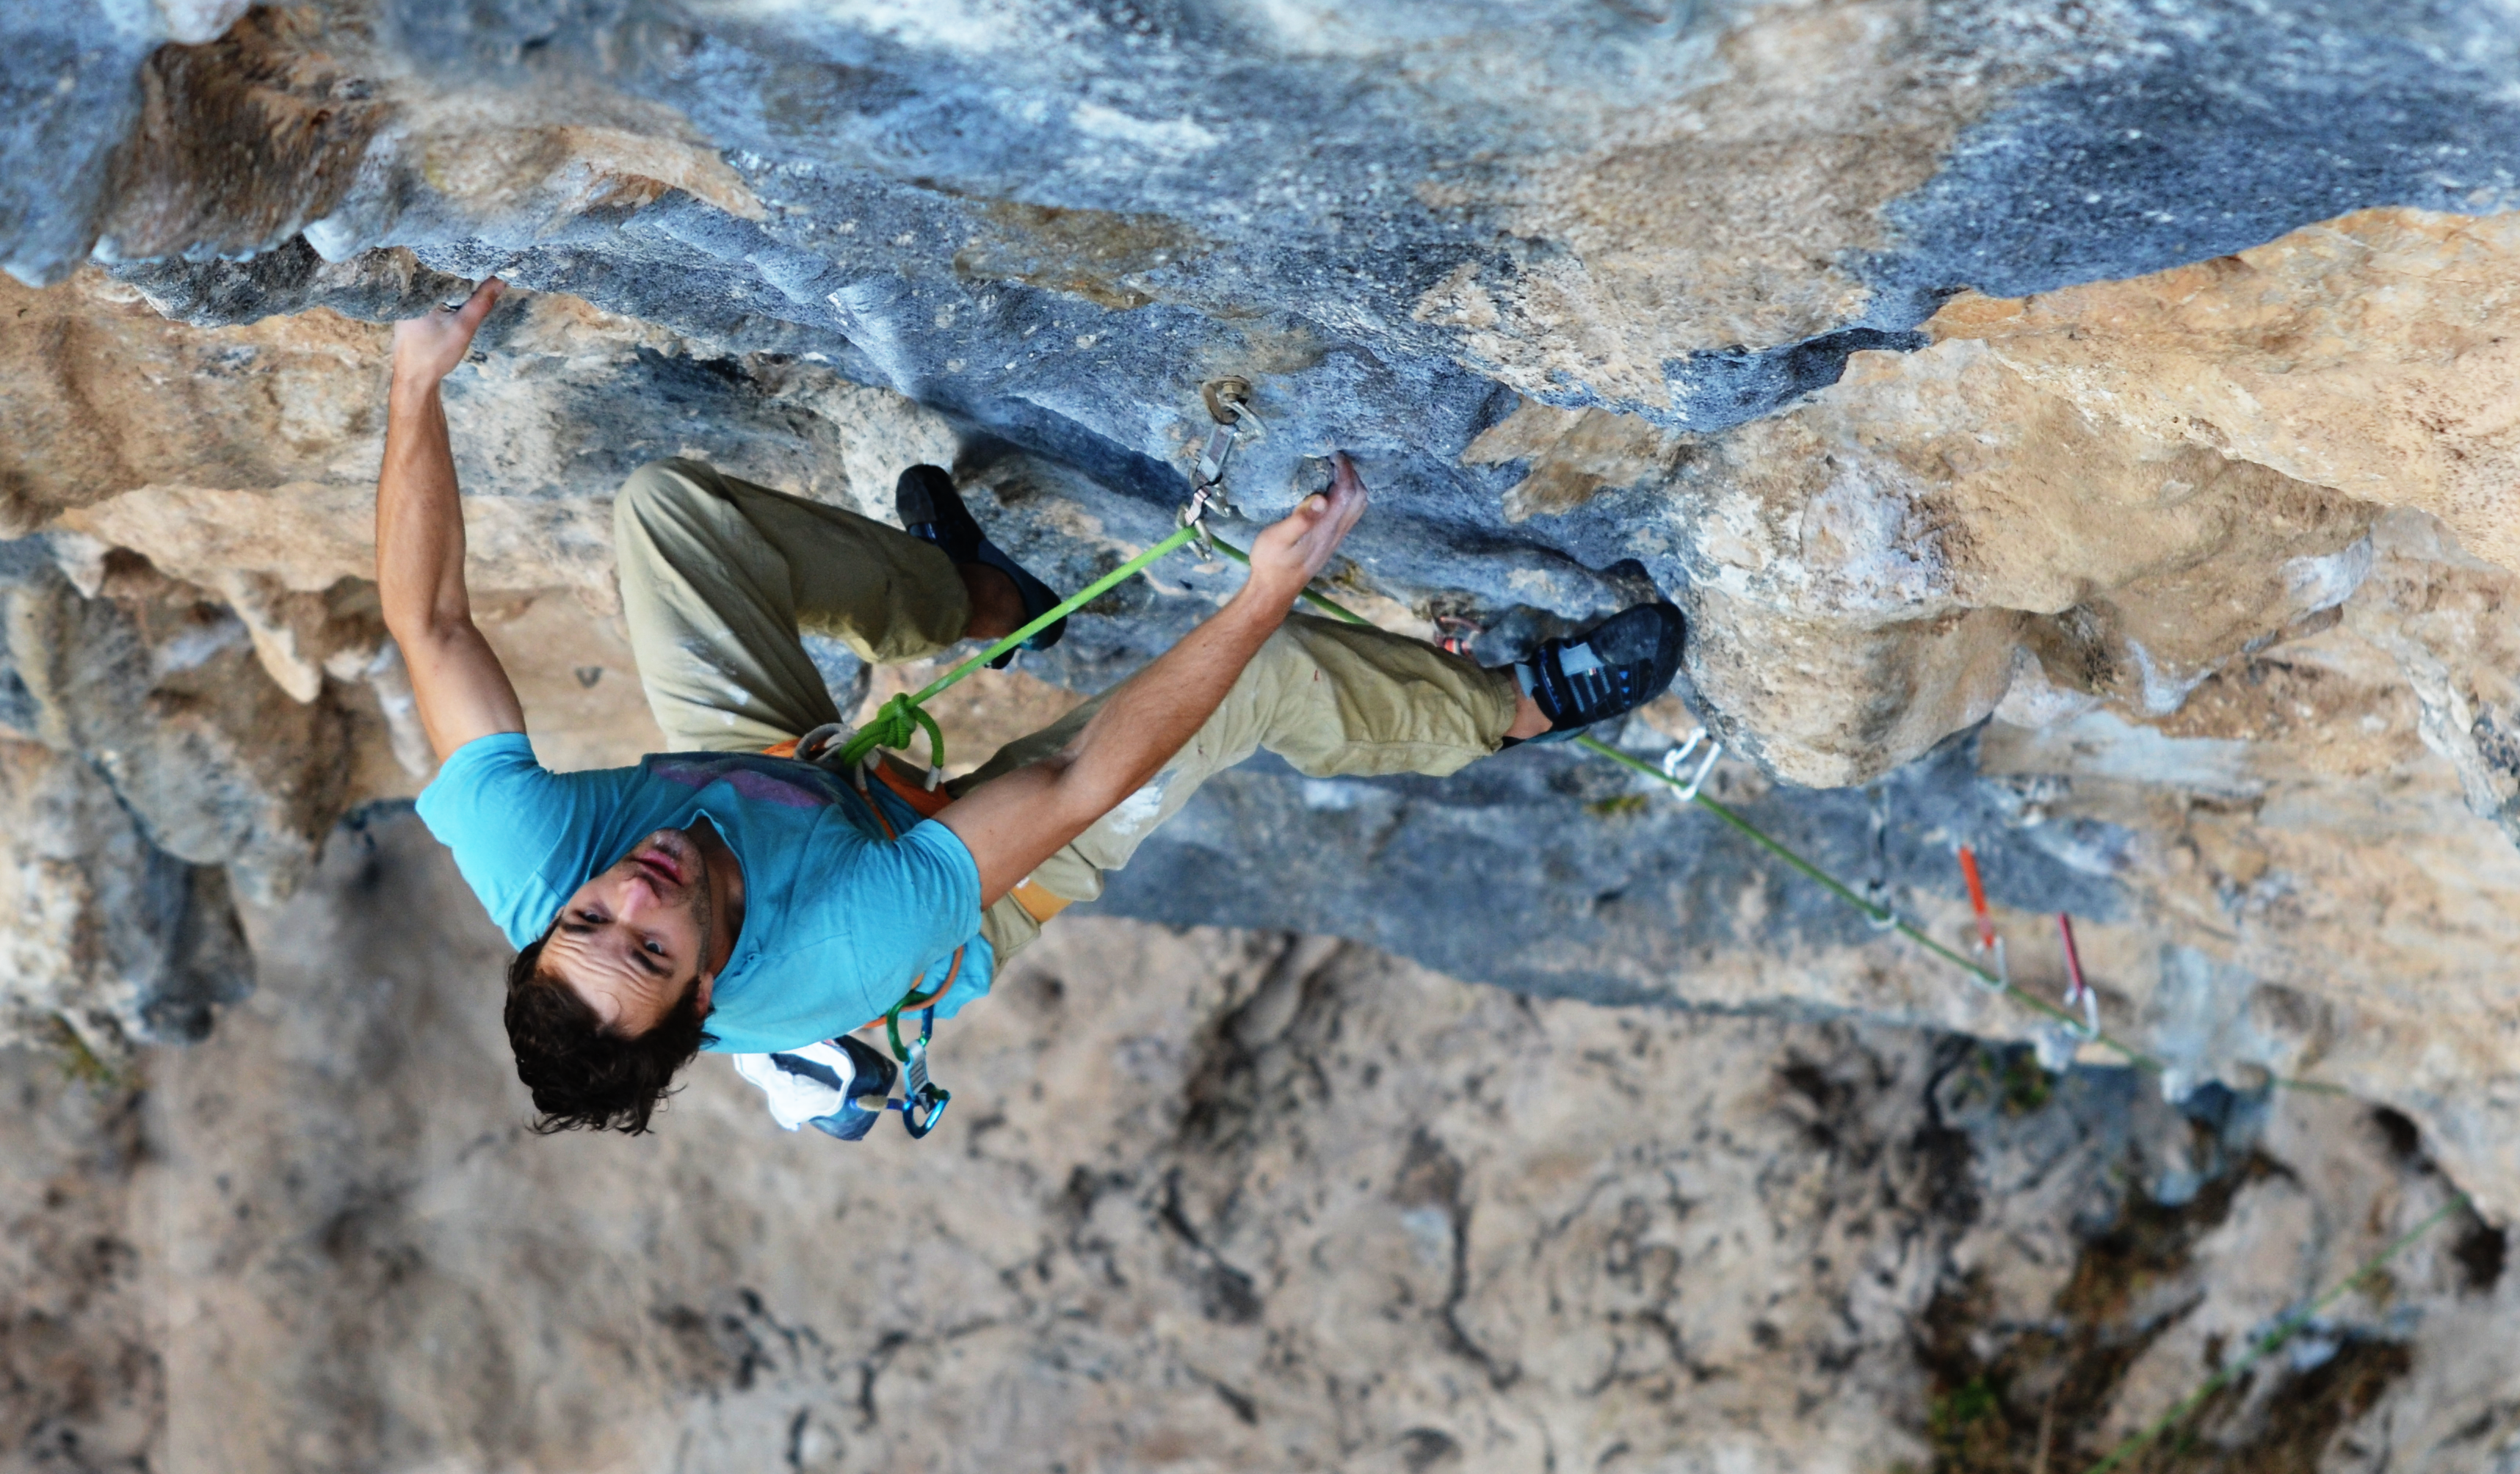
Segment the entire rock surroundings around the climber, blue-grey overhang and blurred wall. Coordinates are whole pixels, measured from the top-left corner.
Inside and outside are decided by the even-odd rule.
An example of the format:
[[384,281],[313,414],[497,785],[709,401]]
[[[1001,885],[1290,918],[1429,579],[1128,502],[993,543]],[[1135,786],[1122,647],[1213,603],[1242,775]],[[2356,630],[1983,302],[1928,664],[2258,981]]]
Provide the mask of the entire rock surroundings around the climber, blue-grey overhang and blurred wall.
[[[0,40],[0,1456],[2069,1469],[2465,1189],[2162,1466],[2520,1469],[2505,8]],[[1076,585],[1240,375],[1255,517],[1333,446],[1376,486],[1343,597],[1502,660],[1661,590],[1683,688],[1618,743],[1709,726],[1726,801],[1948,937],[1976,847],[2016,978],[2071,910],[2167,1071],[2036,1071],[2031,1018],[1575,753],[1263,761],[958,1028],[925,1151],[708,1068],[663,1141],[519,1141],[368,582],[383,323],[491,270],[449,413],[554,766],[658,741],[640,461],[877,517],[948,464]],[[958,766],[1230,585],[1179,559],[958,690]]]

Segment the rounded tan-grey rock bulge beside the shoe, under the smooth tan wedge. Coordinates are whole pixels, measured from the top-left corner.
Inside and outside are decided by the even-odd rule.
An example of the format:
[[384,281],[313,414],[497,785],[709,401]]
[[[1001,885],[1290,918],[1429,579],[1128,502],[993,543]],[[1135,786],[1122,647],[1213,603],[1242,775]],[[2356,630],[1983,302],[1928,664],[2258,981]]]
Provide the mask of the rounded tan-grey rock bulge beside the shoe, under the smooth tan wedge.
[[2044,680],[2175,711],[2253,640],[2344,600],[2374,509],[2152,443],[1976,343],[1857,353],[1711,443],[1691,673],[1779,776],[1862,781],[1983,718],[2013,645]]

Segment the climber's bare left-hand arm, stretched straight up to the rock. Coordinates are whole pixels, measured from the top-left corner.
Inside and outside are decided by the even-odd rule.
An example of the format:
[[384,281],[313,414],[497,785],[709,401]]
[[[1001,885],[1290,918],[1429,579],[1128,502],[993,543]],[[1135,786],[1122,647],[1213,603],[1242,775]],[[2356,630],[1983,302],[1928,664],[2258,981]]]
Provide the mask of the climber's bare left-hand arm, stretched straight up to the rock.
[[446,443],[438,383],[464,363],[474,328],[504,282],[491,277],[456,312],[393,328],[393,388],[386,398],[386,466],[375,476],[375,592],[386,630],[403,648],[421,726],[438,758],[474,738],[524,731],[524,706],[464,592],[464,504]]

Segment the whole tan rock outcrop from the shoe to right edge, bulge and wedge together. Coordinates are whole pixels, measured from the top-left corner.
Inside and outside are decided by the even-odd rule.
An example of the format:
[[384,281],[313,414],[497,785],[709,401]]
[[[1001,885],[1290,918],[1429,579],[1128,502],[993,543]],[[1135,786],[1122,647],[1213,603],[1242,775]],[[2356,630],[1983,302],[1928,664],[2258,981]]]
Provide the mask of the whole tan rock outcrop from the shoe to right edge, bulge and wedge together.
[[[2016,716],[2177,711],[2359,585],[2379,506],[2520,562],[2515,222],[2361,212],[2134,282],[1961,297],[1935,348],[1852,355],[1676,481],[1706,499],[1701,683],[1779,776],[1847,784],[2008,688]],[[1998,612],[2029,615],[2011,683]]]

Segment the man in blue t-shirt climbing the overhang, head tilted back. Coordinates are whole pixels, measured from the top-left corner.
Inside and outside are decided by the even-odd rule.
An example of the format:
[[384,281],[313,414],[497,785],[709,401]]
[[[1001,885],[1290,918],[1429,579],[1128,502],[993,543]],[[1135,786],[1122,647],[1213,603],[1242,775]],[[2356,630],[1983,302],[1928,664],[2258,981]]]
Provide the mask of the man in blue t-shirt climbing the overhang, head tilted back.
[[[945,786],[852,786],[796,753],[839,723],[799,630],[867,660],[1016,632],[1056,595],[998,552],[935,466],[902,474],[910,532],[698,461],[643,466],[615,504],[622,615],[670,753],[552,774],[471,622],[438,383],[499,300],[393,333],[375,491],[378,592],[441,758],[421,819],[517,945],[507,1031],[537,1129],[645,1131],[708,1048],[814,1046],[915,985],[953,1013],[1068,902],[1101,894],[1212,774],[1270,748],[1303,774],[1452,774],[1658,695],[1681,617],[1641,605],[1487,670],[1383,630],[1290,615],[1366,509],[1338,456],[1250,549],[1250,580],[1179,645]],[[1048,645],[1058,625],[1033,637]]]

